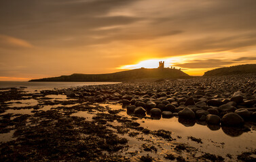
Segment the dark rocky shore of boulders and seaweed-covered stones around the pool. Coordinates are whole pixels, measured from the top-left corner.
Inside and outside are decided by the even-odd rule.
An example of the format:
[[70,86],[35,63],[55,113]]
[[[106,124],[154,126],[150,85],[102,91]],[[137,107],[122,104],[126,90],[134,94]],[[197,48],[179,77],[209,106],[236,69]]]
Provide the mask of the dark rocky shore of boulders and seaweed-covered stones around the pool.
[[[123,82],[37,93],[25,90],[0,91],[0,133],[12,136],[0,144],[1,161],[256,160],[256,143],[249,146],[253,149],[223,157],[180,142],[181,136],[170,130],[150,130],[140,123],[175,117],[183,126],[200,124],[210,130],[222,129],[229,136],[256,130],[256,76],[252,74]],[[67,99],[51,99],[51,95],[65,95]],[[17,101],[29,99],[37,103],[15,106]],[[110,103],[122,108],[111,109],[106,106]],[[10,109],[31,111],[8,113]],[[83,112],[84,117],[75,115]],[[194,136],[187,136],[187,140],[204,142]]]

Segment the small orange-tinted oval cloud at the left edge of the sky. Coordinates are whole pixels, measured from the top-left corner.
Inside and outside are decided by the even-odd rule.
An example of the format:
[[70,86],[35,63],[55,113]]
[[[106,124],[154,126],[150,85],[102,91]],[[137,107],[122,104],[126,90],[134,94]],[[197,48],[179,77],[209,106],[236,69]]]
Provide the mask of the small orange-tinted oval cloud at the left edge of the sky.
[[3,49],[28,49],[32,48],[31,43],[20,38],[0,34],[0,48]]

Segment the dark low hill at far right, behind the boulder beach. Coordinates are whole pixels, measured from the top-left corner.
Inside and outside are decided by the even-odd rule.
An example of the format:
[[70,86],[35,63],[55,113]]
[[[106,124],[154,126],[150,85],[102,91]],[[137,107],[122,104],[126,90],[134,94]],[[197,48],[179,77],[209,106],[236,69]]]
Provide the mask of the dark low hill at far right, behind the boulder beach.
[[225,76],[249,73],[256,73],[256,64],[236,65],[227,68],[218,68],[205,72],[204,76]]

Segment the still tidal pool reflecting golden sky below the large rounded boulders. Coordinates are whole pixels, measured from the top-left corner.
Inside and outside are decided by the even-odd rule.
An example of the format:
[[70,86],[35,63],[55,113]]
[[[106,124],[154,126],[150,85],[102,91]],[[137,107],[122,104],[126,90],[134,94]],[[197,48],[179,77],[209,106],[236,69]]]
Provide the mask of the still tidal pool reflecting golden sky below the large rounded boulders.
[[[122,105],[101,104],[110,109],[124,109]],[[120,115],[131,117],[127,112],[121,111]],[[147,115],[147,117],[150,117]],[[196,121],[184,121],[178,117],[158,118],[158,119],[137,119],[136,122],[143,128],[149,130],[168,130],[172,132],[172,137],[177,142],[189,144],[198,148],[204,153],[211,153],[226,157],[227,154],[239,155],[244,151],[256,149],[256,131],[253,126],[248,125],[251,131],[244,132],[241,128],[228,128],[221,126],[207,126]],[[255,126],[254,126],[255,127]],[[202,139],[202,143],[192,141],[188,137]]]

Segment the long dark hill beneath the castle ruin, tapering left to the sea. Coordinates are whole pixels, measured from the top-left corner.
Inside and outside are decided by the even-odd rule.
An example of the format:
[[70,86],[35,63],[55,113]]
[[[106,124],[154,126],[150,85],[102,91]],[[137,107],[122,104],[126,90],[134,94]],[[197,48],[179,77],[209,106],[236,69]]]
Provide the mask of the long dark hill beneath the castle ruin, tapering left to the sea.
[[30,80],[29,82],[120,82],[139,79],[168,79],[189,77],[181,70],[175,69],[135,69],[111,74],[72,74],[70,76],[58,76]]

